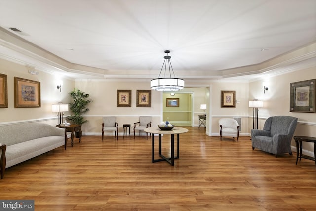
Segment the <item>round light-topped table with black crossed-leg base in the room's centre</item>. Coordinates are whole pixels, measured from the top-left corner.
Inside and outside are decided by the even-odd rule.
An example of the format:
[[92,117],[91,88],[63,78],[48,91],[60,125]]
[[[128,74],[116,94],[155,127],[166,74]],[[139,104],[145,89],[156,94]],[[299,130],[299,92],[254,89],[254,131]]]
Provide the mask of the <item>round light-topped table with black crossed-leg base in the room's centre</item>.
[[[182,127],[173,127],[172,130],[160,130],[159,127],[148,127],[144,129],[145,132],[152,133],[152,163],[159,161],[166,161],[171,166],[174,166],[174,159],[179,158],[179,136],[181,133],[186,133],[189,130]],[[159,156],[161,159],[155,159],[154,156],[154,146],[155,146],[155,138],[154,134],[159,134]],[[161,154],[161,135],[171,135],[171,157],[167,158],[166,156]],[[174,135],[177,135],[177,156],[174,157]]]

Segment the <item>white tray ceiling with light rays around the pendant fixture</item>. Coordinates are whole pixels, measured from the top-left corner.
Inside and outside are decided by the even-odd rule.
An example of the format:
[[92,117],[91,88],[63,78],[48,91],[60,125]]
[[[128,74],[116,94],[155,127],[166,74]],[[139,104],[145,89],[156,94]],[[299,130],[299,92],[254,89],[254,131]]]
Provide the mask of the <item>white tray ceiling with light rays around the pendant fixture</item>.
[[158,77],[170,50],[177,77],[251,79],[316,42],[316,0],[1,0],[0,27],[1,57],[68,77]]

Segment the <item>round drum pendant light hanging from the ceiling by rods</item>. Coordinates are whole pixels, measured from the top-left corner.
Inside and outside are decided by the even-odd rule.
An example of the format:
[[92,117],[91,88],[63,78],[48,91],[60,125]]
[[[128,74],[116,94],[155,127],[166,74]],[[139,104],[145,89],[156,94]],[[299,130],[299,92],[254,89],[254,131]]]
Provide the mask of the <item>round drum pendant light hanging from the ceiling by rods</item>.
[[[164,52],[167,55],[163,57],[164,61],[160,70],[160,74],[157,79],[152,79],[150,81],[150,87],[151,89],[155,91],[179,91],[184,88],[184,80],[175,78],[173,68],[170,62],[171,56],[168,55],[170,51],[165,50]],[[166,74],[168,75],[167,65],[169,68],[169,77],[166,77]],[[163,69],[164,69],[164,76],[160,77]],[[172,71],[173,77],[171,77],[171,71]]]

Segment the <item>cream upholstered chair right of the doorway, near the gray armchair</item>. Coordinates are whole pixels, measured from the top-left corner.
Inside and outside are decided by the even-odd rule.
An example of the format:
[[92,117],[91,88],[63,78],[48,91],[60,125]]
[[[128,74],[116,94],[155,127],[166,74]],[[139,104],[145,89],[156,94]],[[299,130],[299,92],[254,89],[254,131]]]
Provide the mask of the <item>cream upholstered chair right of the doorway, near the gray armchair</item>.
[[239,124],[236,120],[232,118],[222,118],[218,121],[219,123],[219,134],[221,136],[228,136],[228,137],[237,137],[237,141],[239,142]]

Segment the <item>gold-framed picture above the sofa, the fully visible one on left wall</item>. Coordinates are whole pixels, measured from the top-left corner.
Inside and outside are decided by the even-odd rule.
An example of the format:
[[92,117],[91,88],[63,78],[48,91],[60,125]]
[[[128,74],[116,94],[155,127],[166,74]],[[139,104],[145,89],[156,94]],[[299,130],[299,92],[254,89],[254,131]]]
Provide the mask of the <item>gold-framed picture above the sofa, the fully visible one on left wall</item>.
[[14,77],[14,107],[40,107],[40,82]]

